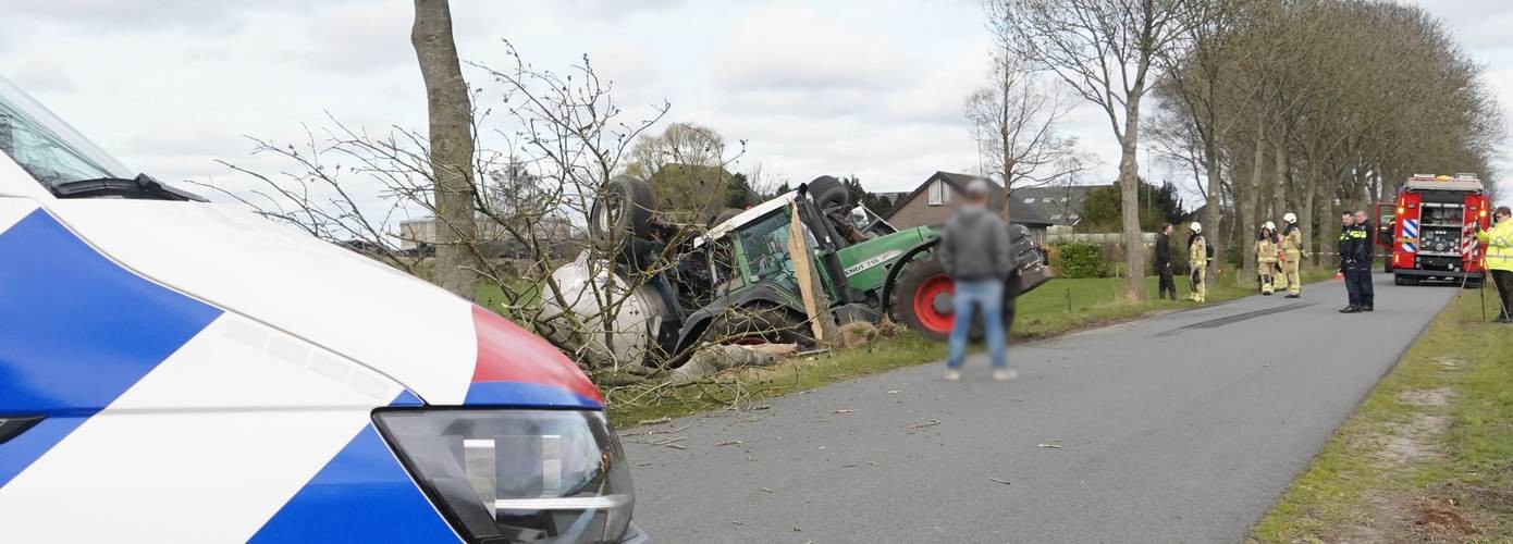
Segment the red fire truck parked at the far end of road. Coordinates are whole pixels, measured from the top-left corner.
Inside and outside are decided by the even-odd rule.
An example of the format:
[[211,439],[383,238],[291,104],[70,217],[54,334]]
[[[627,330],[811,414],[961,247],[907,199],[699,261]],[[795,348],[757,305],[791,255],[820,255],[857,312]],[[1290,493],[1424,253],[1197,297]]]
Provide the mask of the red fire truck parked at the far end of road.
[[1480,286],[1483,248],[1477,227],[1489,227],[1486,186],[1475,174],[1415,175],[1396,202],[1377,204],[1377,245],[1400,286],[1424,280]]

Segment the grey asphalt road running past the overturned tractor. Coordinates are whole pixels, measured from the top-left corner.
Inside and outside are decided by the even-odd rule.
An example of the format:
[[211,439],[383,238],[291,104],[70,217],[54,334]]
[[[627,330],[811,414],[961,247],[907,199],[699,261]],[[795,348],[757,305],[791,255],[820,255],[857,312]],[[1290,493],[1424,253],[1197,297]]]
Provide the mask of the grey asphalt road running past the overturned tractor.
[[660,542],[1239,541],[1456,292],[1378,272],[1375,313],[1336,313],[1330,281],[1012,346],[1006,384],[979,355],[961,382],[628,429],[635,520]]

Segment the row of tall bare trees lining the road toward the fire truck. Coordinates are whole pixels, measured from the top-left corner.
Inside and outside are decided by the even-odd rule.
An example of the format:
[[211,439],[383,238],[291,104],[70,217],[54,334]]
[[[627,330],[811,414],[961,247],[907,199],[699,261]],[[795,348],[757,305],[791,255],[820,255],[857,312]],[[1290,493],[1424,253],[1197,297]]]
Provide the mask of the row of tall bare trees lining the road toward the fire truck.
[[[1130,299],[1145,296],[1142,144],[1191,172],[1207,202],[1201,222],[1219,243],[1241,246],[1241,278],[1251,278],[1254,231],[1262,222],[1297,213],[1313,261],[1330,263],[1333,255],[1322,249],[1337,234],[1336,210],[1390,199],[1416,172],[1490,178],[1505,133],[1483,68],[1442,21],[1416,6],[1375,0],[985,5],[996,38],[993,83],[968,98],[968,118],[979,134],[990,134],[999,156],[993,174],[1012,187],[1021,178],[1068,169],[1065,157],[1076,157],[1068,151],[1074,142],[1053,133],[1067,107],[1055,98],[1061,92],[1101,110],[1120,142],[1118,204]],[[1058,85],[1047,91],[1041,79]],[[1032,168],[1045,165],[1052,166]],[[1049,175],[1015,174],[1024,171]],[[1227,230],[1219,231],[1221,225]]]

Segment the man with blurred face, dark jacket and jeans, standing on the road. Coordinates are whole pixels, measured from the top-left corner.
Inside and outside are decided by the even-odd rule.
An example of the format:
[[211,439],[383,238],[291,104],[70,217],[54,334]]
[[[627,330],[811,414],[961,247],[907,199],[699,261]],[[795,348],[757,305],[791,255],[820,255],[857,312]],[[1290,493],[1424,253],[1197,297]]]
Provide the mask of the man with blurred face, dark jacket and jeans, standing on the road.
[[1009,225],[988,210],[986,181],[973,180],[964,192],[967,202],[946,222],[946,234],[937,249],[941,267],[956,287],[946,379],[961,379],[973,311],[982,313],[988,355],[993,358],[993,379],[1014,379],[1003,329],[1005,280],[1018,267]]

